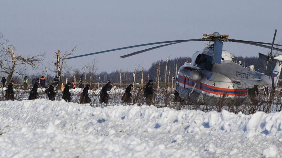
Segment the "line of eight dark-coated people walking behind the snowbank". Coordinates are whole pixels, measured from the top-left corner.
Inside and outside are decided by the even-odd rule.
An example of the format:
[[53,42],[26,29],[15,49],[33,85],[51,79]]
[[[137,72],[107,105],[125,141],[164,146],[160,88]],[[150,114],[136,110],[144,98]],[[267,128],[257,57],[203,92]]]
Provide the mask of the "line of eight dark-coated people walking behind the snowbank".
[[[5,94],[5,100],[14,100],[14,91],[13,91],[13,85],[14,85],[14,81],[11,80],[10,84],[8,85],[7,89],[6,89],[6,94]],[[47,89],[45,89],[45,93],[47,94],[48,98],[50,100],[55,100],[55,96],[56,96],[56,92],[55,92],[55,86],[56,83],[52,83]],[[71,87],[71,83],[68,82],[65,85],[65,88],[63,90],[63,96],[62,99],[64,99],[66,102],[70,102],[71,101],[71,93],[70,93],[70,87]],[[34,100],[38,98],[38,88],[39,88],[39,82],[35,82],[34,86],[32,87],[30,94],[29,94],[29,98],[28,100]],[[112,88],[111,83],[108,81],[105,86],[102,87],[101,91],[100,91],[100,103],[108,103],[108,101],[111,99],[109,94],[107,93],[107,91],[110,91]],[[130,84],[126,89],[125,92],[121,98],[121,100],[123,102],[131,102],[131,90],[133,88],[133,85]],[[90,85],[87,84],[82,93],[81,93],[81,97],[80,97],[80,103],[90,103],[91,99],[88,96],[88,90],[90,89]],[[146,102],[147,104],[150,104],[152,102],[152,98],[154,95],[154,89],[153,89],[153,80],[149,80],[149,82],[146,84],[146,86],[143,88],[144,91],[144,97],[146,98]]]

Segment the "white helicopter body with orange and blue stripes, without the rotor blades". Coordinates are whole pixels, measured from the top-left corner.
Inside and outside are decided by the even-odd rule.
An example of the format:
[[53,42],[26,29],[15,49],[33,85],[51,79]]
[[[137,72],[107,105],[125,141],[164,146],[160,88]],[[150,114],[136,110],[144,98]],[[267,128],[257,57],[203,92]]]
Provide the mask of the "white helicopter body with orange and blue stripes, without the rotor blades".
[[[271,77],[256,72],[254,66],[248,68],[233,62],[227,51],[222,51],[221,64],[210,64],[211,52],[209,47],[196,52],[192,62],[184,64],[177,72],[175,87],[183,100],[205,105],[242,104],[249,102],[249,88],[272,85]],[[274,68],[276,83],[280,71],[281,61],[277,61]]]

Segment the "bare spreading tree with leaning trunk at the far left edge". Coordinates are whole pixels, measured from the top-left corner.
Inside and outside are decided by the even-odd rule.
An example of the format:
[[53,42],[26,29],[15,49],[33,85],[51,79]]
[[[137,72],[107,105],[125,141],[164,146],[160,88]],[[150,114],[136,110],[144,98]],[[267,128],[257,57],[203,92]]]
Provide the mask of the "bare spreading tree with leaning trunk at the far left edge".
[[2,34],[0,35],[0,72],[8,75],[7,83],[10,82],[14,73],[24,75],[27,65],[32,68],[38,67],[40,61],[43,60],[43,56],[44,53],[35,56],[28,55],[27,57],[17,56],[13,45],[9,44],[9,40],[5,39]]

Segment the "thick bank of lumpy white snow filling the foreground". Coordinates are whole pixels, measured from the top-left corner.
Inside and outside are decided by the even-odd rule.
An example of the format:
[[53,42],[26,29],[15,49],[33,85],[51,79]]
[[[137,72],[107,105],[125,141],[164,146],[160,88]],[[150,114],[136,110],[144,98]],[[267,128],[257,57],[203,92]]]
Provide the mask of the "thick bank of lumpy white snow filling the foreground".
[[0,157],[282,157],[282,113],[0,102]]

